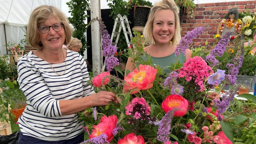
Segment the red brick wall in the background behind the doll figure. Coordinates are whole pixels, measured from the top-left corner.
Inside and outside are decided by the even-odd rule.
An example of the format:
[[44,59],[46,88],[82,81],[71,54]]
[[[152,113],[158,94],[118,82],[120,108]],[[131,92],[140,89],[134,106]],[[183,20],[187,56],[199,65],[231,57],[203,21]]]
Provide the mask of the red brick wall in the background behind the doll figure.
[[191,46],[204,46],[205,41],[208,41],[209,45],[207,47],[210,47],[216,42],[213,35],[216,34],[218,24],[225,17],[229,9],[236,7],[239,12],[243,12],[246,11],[246,8],[249,8],[250,12],[256,12],[255,6],[256,1],[196,4],[194,18],[189,19],[188,16],[182,16],[182,37],[187,31],[191,31],[195,27],[204,26],[206,30],[203,34],[193,39]]

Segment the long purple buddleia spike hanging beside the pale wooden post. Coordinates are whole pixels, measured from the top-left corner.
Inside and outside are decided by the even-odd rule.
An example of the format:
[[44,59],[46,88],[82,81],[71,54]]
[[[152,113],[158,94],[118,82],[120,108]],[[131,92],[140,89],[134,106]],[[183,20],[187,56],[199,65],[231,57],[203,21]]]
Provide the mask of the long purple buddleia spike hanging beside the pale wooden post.
[[110,35],[108,34],[108,31],[105,29],[106,26],[104,25],[103,21],[99,20],[98,18],[96,18],[96,20],[99,21],[99,25],[100,25],[100,35],[102,38],[102,47],[103,47],[102,54],[103,56],[106,57],[105,62],[106,62],[107,70],[111,71],[115,66],[119,65],[118,58],[113,56],[116,53],[117,48],[116,46],[112,45],[112,41],[110,40]]

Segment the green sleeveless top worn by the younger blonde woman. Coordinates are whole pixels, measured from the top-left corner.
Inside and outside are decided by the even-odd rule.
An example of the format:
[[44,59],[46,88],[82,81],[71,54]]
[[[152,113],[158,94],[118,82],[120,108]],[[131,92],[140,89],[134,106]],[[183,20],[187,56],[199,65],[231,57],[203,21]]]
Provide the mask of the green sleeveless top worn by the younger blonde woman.
[[[145,52],[145,57],[142,58],[143,61],[148,60],[148,54]],[[175,56],[174,53],[165,56],[165,57],[153,57],[151,56],[152,62],[155,65],[158,65],[160,68],[165,68],[166,66],[171,66],[172,63],[175,63],[177,60],[177,56]],[[181,53],[179,55],[179,62],[180,63],[184,63],[186,61],[186,57]],[[166,70],[166,74],[169,74],[171,72],[171,70],[169,68],[165,68]]]

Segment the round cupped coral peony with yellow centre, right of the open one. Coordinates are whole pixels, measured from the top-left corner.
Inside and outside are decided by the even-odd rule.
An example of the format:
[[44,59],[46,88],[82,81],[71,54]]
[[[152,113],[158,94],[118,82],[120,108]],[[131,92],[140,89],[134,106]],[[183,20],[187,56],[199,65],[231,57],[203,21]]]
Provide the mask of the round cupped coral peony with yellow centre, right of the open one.
[[188,101],[180,95],[169,95],[162,103],[162,109],[166,113],[173,108],[180,108],[181,110],[175,111],[174,116],[183,116],[188,109]]

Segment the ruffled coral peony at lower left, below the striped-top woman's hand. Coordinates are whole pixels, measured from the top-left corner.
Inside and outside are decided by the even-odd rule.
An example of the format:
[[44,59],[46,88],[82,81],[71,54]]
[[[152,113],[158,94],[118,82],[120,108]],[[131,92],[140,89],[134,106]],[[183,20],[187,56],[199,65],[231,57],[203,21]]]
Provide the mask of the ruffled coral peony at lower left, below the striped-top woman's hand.
[[115,129],[117,121],[118,119],[116,115],[108,117],[104,115],[101,117],[100,123],[98,125],[92,126],[94,129],[92,129],[92,134],[89,136],[89,138],[91,139],[101,134],[106,134],[108,135],[108,142],[110,142],[114,138],[112,131]]

